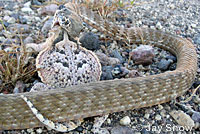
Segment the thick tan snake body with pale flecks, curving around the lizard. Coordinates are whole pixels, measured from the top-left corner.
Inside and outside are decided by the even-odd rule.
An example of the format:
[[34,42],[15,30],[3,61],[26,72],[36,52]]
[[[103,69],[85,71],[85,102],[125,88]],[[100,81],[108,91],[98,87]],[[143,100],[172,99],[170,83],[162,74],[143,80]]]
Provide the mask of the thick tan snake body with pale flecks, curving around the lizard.
[[[80,8],[81,9],[81,8]],[[104,115],[153,106],[183,95],[192,85],[197,70],[193,44],[181,37],[148,28],[121,28],[106,21],[93,21],[77,12],[82,20],[113,39],[128,44],[152,44],[177,57],[177,68],[158,75],[98,81],[60,90],[23,93],[48,119],[55,122]],[[0,130],[43,126],[20,97],[0,95]]]

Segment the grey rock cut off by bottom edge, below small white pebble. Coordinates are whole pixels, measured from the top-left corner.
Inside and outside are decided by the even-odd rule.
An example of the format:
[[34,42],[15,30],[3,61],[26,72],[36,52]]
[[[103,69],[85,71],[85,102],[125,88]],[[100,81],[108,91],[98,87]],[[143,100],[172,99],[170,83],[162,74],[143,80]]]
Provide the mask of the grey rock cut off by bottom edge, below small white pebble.
[[111,129],[111,134],[134,134],[134,131],[126,126],[117,126]]

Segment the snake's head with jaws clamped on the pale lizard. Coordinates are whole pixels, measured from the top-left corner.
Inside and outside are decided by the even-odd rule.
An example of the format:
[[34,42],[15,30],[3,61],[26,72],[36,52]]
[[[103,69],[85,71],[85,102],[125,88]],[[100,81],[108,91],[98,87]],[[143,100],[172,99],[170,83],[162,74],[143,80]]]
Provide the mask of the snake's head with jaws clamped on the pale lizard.
[[54,14],[52,28],[57,25],[67,31],[69,36],[73,38],[79,37],[79,34],[83,29],[81,18],[77,13],[66,8],[64,5],[59,6]]

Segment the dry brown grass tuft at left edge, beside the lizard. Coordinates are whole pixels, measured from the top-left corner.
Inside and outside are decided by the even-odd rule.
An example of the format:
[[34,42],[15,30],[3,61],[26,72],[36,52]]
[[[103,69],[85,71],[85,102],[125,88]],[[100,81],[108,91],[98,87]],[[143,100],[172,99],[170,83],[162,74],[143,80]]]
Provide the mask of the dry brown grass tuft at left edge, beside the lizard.
[[36,72],[35,59],[31,57],[32,52],[26,51],[22,37],[20,40],[20,45],[0,44],[0,48],[8,48],[0,50],[0,93],[12,93],[17,81],[26,83]]

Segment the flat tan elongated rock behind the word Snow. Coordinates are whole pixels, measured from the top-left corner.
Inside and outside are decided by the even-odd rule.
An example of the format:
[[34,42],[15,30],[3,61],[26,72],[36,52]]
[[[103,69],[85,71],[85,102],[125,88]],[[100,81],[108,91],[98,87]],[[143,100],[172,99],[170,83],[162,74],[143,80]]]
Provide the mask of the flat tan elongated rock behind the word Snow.
[[191,119],[191,117],[181,110],[178,110],[178,111],[174,110],[174,111],[170,112],[169,114],[181,126],[187,126],[187,127],[195,126],[194,121]]

